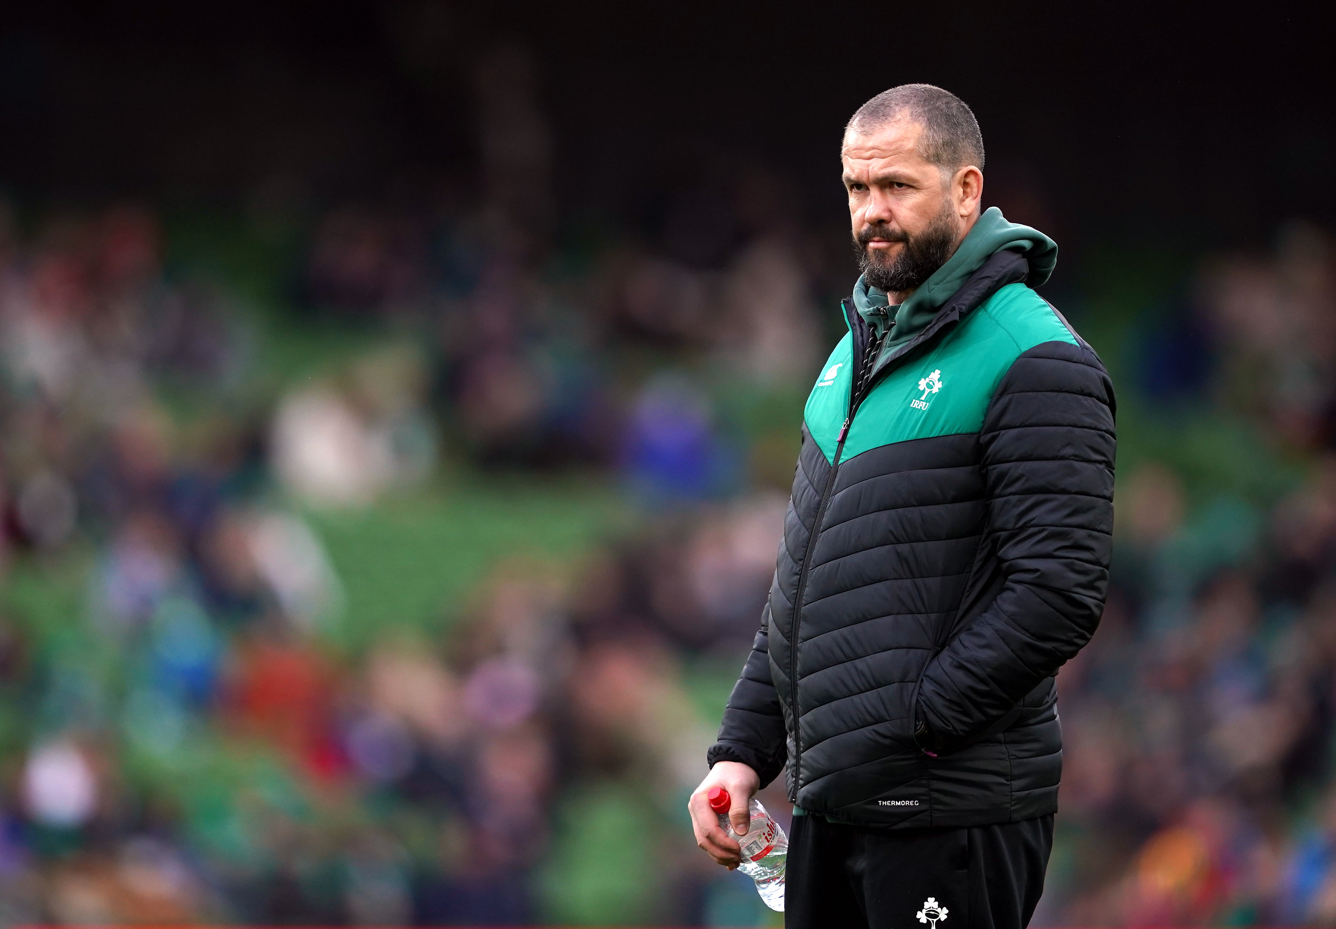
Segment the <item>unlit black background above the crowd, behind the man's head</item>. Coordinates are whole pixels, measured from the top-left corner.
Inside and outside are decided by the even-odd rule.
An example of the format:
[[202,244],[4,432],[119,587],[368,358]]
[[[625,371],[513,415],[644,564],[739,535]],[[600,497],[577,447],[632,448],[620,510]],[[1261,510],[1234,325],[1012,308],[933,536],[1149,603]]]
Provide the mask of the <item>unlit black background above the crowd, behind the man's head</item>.
[[970,103],[990,192],[1039,201],[1063,247],[1256,243],[1336,199],[1331,33],[1313,9],[13,4],[0,176],[64,196],[236,199],[266,182],[379,196],[470,163],[472,64],[520,43],[568,221],[643,218],[681,172],[728,184],[756,160],[839,219],[843,122],[918,80]]

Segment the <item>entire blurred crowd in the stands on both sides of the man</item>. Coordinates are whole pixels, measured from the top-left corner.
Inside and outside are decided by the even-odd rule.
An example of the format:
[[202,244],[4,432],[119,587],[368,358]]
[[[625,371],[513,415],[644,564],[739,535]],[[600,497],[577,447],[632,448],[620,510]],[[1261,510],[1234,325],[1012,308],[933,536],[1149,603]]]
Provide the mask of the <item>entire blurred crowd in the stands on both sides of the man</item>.
[[[309,218],[277,311],[365,342],[310,376],[259,376],[267,317],[152,210],[0,211],[0,922],[768,925],[684,801],[852,274],[763,172],[562,238],[510,186],[548,171],[525,80],[480,72],[525,143],[484,195]],[[1332,241],[1217,255],[1130,329],[1063,309],[1121,333],[1124,446],[1037,921],[1331,924]],[[605,476],[633,528],[341,647],[313,513],[452,468]]]

